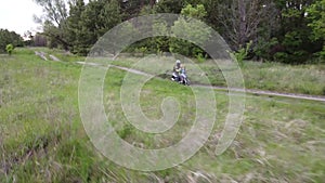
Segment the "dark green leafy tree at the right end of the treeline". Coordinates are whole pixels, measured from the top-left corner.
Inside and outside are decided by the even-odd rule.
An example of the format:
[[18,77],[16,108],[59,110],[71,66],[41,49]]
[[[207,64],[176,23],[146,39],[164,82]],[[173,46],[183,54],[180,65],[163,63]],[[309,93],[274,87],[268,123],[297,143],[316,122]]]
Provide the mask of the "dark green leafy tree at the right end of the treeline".
[[280,51],[272,53],[273,60],[284,63],[304,63],[312,54],[322,49],[322,44],[310,39],[312,28],[308,25],[308,8],[314,0],[276,1],[280,10],[281,27],[276,32]]

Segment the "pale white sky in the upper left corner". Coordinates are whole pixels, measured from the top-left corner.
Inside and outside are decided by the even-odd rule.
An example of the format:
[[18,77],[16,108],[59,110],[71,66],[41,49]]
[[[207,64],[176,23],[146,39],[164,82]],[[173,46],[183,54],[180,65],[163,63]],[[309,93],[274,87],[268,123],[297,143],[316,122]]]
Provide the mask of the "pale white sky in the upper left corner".
[[34,0],[0,0],[0,28],[24,35],[37,31],[40,26],[34,22],[34,14],[42,15],[42,9]]

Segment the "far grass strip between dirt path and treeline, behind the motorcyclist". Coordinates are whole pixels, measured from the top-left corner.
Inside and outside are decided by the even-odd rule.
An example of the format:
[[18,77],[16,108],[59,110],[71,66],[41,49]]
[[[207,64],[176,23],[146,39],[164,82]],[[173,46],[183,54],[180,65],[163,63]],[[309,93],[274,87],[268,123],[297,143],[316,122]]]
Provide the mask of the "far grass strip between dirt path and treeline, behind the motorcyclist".
[[[117,61],[112,62],[114,65],[132,67],[142,57],[118,57]],[[148,56],[145,62],[154,63],[157,58]],[[147,73],[159,73],[171,70],[170,65],[174,62],[173,57],[158,57],[161,62],[169,64],[161,67],[140,67],[133,66],[136,69]],[[193,61],[184,61],[188,77],[193,83],[203,83],[203,74],[209,78],[213,86],[226,86],[222,71],[232,71],[232,68],[221,70],[216,63],[207,61],[200,64],[193,64]],[[219,64],[222,62],[218,61]],[[198,66],[198,67],[197,67]],[[157,70],[158,69],[158,70]],[[287,93],[301,93],[312,95],[325,95],[325,65],[285,65],[281,63],[258,63],[246,61],[242,66],[242,73],[247,89],[258,89]]]

